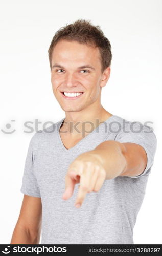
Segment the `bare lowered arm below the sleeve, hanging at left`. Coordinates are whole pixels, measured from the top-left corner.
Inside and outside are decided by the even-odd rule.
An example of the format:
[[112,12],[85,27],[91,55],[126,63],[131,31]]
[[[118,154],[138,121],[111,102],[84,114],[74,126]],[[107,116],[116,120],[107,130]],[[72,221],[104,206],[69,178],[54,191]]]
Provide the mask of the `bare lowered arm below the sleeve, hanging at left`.
[[10,244],[39,244],[41,217],[41,198],[24,195]]

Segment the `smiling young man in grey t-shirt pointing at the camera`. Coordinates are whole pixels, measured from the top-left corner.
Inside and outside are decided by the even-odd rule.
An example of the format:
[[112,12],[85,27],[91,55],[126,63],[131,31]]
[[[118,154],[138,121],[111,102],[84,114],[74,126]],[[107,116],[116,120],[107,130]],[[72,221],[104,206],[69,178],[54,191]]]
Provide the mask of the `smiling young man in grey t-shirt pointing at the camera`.
[[151,127],[101,105],[111,45],[77,20],[51,42],[53,93],[65,118],[29,144],[20,215],[11,244],[133,244],[156,151]]

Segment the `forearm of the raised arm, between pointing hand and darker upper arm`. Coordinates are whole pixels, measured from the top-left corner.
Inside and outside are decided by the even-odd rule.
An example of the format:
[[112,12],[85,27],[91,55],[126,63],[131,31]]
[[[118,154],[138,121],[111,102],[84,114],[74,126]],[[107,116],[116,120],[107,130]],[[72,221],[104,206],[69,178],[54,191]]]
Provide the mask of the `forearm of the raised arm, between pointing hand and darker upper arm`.
[[119,176],[126,169],[125,148],[118,141],[104,141],[91,152],[100,159],[106,171],[106,180]]

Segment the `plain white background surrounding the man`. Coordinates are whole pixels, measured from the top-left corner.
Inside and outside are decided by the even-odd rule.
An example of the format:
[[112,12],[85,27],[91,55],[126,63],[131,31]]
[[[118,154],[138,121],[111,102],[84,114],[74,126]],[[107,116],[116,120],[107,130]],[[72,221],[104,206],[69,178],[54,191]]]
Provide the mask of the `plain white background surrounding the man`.
[[[130,121],[151,121],[157,151],[134,227],[135,244],[161,244],[161,4],[159,0],[1,1],[0,243],[10,243],[31,137],[46,121],[65,117],[50,81],[48,49],[55,32],[79,18],[100,25],[112,46],[111,75],[102,105]],[[15,121],[11,121],[15,120]],[[24,122],[33,122],[33,133]],[[11,124],[7,128],[6,124]],[[50,126],[51,124],[49,123]],[[27,131],[27,129],[26,129]]]

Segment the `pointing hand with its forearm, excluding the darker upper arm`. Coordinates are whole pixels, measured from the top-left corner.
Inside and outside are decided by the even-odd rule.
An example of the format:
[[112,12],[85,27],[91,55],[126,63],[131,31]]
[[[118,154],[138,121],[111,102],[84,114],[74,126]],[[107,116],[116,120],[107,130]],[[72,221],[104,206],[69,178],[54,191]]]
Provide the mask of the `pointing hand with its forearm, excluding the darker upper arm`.
[[80,207],[88,192],[98,192],[105,180],[113,179],[127,169],[127,149],[118,141],[104,141],[94,150],[80,154],[70,164],[65,176],[62,199],[73,195],[74,186],[80,183],[75,206]]

